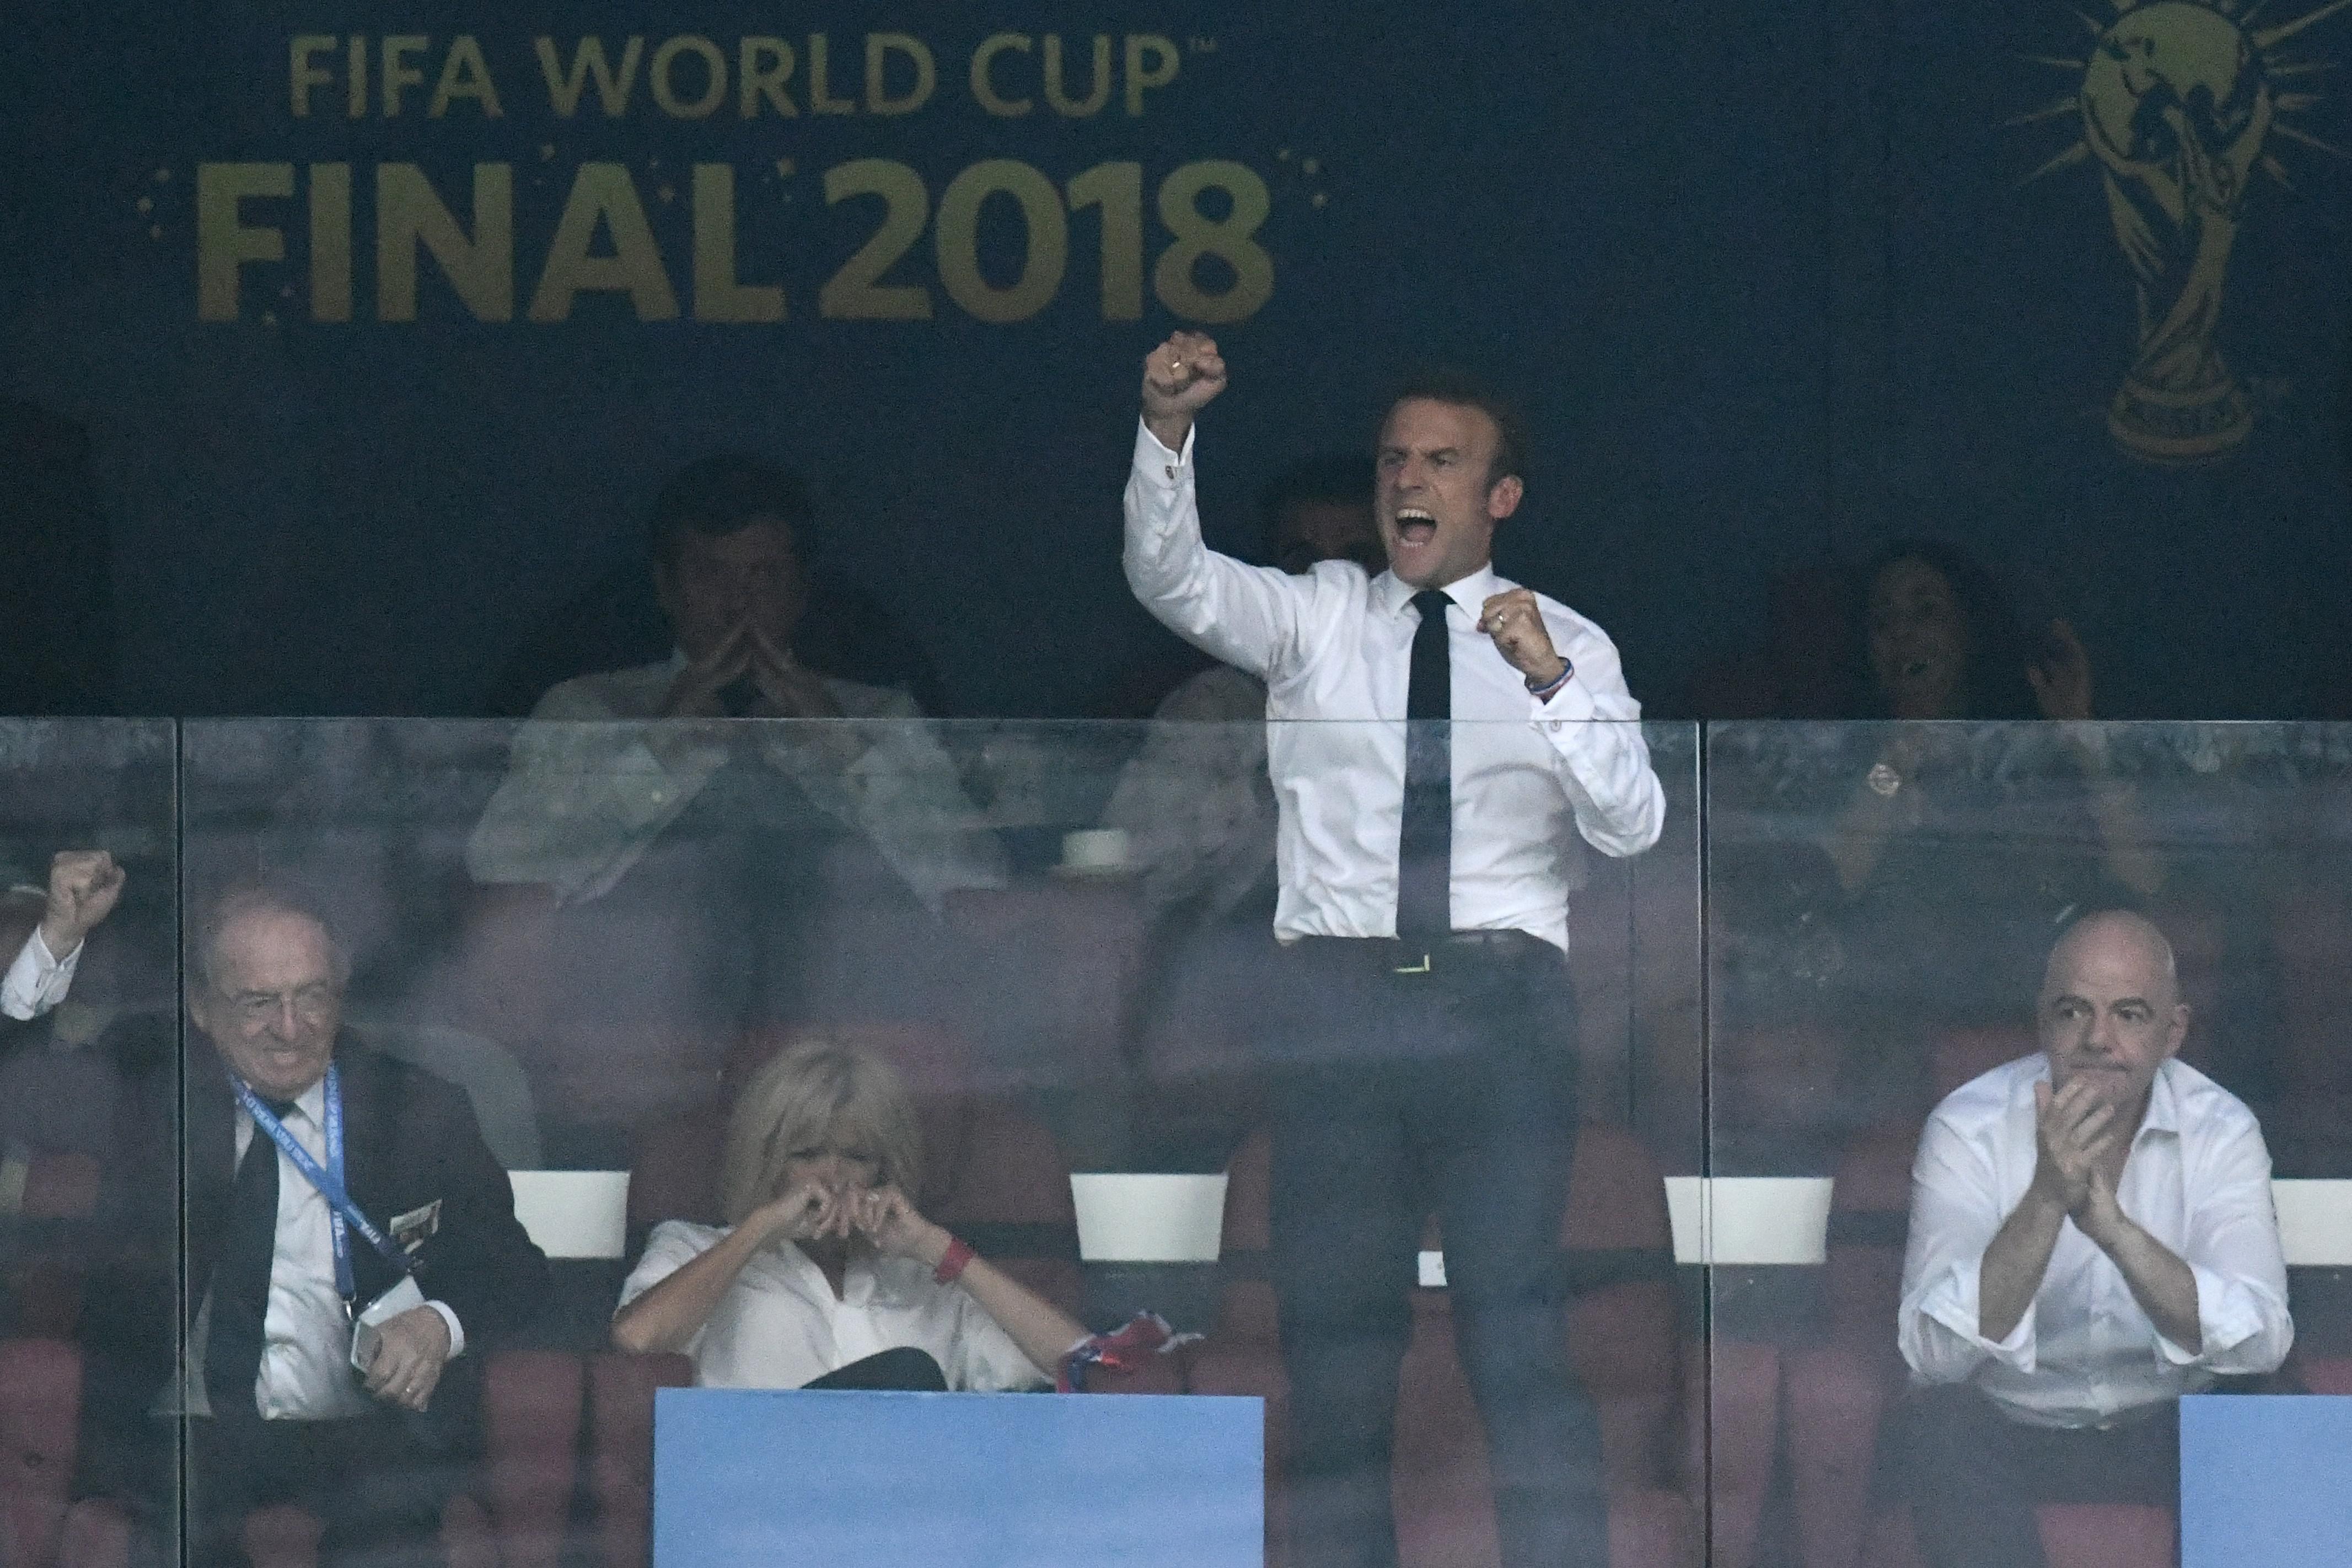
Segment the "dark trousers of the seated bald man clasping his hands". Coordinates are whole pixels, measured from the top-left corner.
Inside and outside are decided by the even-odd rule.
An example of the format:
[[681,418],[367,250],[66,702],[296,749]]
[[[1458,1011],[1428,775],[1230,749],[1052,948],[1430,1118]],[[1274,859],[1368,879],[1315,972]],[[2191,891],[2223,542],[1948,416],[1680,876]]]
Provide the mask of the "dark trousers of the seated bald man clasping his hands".
[[2098,1427],[2027,1427],[1969,1385],[1912,1389],[1889,1432],[1931,1568],[2042,1568],[2037,1502],[2180,1507],[2180,1406]]

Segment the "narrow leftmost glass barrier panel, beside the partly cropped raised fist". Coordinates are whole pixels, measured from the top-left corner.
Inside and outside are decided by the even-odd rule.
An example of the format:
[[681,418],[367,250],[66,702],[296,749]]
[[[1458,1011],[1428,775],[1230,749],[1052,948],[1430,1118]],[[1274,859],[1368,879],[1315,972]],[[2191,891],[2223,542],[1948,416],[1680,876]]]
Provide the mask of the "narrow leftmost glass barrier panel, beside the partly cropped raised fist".
[[176,1561],[167,722],[0,722],[0,1469],[26,1561]]

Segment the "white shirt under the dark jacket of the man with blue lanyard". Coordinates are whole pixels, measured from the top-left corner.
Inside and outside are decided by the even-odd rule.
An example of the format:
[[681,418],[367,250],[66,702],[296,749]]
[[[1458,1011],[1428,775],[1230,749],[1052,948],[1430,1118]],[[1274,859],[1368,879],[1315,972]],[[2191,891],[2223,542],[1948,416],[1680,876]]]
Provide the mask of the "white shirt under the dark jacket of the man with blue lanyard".
[[[294,1098],[282,1126],[294,1133],[310,1159],[327,1166],[327,1084],[318,1081]],[[238,1105],[238,1161],[254,1138],[263,1135],[252,1114]],[[334,1232],[327,1227],[327,1197],[278,1150],[278,1251],[270,1260],[270,1305],[261,1319],[261,1375],[254,1396],[266,1420],[339,1420],[369,1415],[379,1401],[350,1371],[350,1321],[343,1295],[334,1286]],[[369,1215],[376,1218],[376,1215]],[[381,1222],[381,1220],[379,1220]],[[350,1232],[350,1246],[367,1239]],[[365,1307],[367,1302],[360,1302]],[[466,1354],[466,1328],[449,1302],[426,1302],[449,1324],[449,1359]],[[212,1293],[205,1293],[188,1333],[188,1415],[209,1415],[205,1394],[205,1345],[212,1331]],[[383,1406],[388,1408],[388,1406]]]

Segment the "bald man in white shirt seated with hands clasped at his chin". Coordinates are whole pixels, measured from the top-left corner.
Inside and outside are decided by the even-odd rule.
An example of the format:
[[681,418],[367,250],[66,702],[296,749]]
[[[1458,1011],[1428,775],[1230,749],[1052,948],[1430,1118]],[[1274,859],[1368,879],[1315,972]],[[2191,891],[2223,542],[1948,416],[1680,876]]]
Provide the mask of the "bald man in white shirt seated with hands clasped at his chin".
[[2051,950],[2042,1051],[1962,1084],[1912,1168],[1900,1443],[1936,1568],[2042,1563],[2034,1502],[2180,1483],[2178,1401],[2293,1345],[2270,1150],[2173,1060],[2171,943],[2089,914]]

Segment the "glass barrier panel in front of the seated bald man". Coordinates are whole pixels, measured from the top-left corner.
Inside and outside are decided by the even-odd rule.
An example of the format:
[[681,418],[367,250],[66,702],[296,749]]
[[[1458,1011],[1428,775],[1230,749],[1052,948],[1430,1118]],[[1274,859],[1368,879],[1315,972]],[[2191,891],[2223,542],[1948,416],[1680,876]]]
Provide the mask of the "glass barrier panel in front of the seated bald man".
[[2347,806],[2340,726],[1710,726],[1719,1544],[2171,1561],[2185,1396],[2352,1387]]

